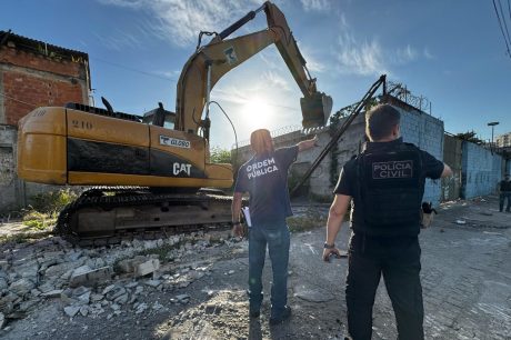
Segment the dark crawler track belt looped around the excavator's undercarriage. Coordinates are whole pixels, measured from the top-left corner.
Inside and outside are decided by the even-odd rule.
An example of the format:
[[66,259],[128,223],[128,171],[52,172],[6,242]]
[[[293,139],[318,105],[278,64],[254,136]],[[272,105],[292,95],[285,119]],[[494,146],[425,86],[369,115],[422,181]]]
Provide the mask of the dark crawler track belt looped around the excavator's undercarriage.
[[[117,244],[122,240],[133,239],[157,239],[164,238],[177,233],[190,233],[194,231],[211,231],[211,230],[228,230],[231,228],[230,223],[203,223],[203,224],[189,224],[189,226],[169,226],[167,228],[138,228],[136,230],[120,230],[113,237],[100,236],[98,238],[88,237],[87,239],[80,238],[71,229],[71,220],[74,213],[80,209],[99,207],[102,209],[117,208],[117,207],[133,207],[133,206],[148,206],[159,204],[162,202],[189,202],[189,203],[206,203],[210,201],[224,201],[230,204],[232,199],[229,196],[198,193],[198,194],[153,194],[150,193],[148,188],[92,188],[84,191],[76,201],[68,204],[60,212],[53,233],[60,234],[72,244],[80,247],[94,247]],[[114,193],[111,196],[102,196],[103,192]],[[100,196],[101,194],[101,196]]]

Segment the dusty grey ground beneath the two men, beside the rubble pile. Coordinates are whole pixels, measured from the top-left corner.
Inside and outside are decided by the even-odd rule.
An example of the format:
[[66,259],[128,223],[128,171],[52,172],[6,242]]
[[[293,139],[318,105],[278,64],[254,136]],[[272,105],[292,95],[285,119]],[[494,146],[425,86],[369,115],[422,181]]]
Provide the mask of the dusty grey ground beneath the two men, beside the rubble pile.
[[[511,214],[495,208],[495,197],[447,202],[431,228],[422,230],[427,339],[511,339]],[[293,209],[302,211],[303,207]],[[328,206],[313,209],[328,213]],[[269,259],[261,317],[250,320],[246,293],[248,243],[226,241],[200,251],[189,248],[178,262],[162,266],[153,278],[114,277],[112,282],[121,282],[128,291],[142,287],[137,296],[130,294],[137,297],[133,302],[118,307],[103,303],[103,312],[71,318],[63,311],[62,298],[47,298],[23,318],[8,319],[0,338],[342,339],[347,259],[323,262],[324,226],[311,228],[292,234],[288,293],[292,316],[280,326],[270,327],[268,322]],[[345,249],[348,239],[344,224],[335,243]],[[38,247],[38,242],[43,240],[23,247]],[[66,251],[73,253],[77,249]],[[100,253],[106,258],[109,249]],[[200,274],[184,284],[168,290],[151,286],[151,279],[182,278],[191,272]],[[112,282],[103,282],[92,292],[99,293]],[[381,283],[374,304],[373,339],[395,338],[391,304]]]

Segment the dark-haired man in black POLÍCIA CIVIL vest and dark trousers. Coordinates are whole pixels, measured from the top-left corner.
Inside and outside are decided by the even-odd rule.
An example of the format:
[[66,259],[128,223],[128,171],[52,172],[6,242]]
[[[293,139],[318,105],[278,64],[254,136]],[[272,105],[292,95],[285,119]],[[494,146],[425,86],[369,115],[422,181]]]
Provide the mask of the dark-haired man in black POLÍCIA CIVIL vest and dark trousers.
[[428,152],[402,141],[400,118],[389,104],[367,112],[370,142],[342,168],[327,222],[325,261],[339,254],[334,240],[352,200],[345,299],[348,331],[354,340],[371,339],[372,307],[382,274],[399,339],[424,338],[418,238],[424,181],[452,172]]

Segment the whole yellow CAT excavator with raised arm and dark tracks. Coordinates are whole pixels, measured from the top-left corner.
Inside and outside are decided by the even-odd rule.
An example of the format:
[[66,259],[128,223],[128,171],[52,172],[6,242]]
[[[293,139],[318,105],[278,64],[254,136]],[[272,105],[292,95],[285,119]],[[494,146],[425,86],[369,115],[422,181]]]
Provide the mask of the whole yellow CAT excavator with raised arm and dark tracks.
[[[268,29],[226,39],[260,11]],[[201,46],[203,36],[213,36]],[[210,92],[220,78],[274,43],[303,93],[302,126],[323,126],[332,99],[318,92],[283,13],[271,2],[220,33],[201,32],[177,87],[176,112],[144,117],[69,103],[38,108],[19,122],[18,176],[48,184],[102,186],[66,207],[56,231],[101,244],[133,236],[203,230],[230,221],[231,164],[211,163]]]

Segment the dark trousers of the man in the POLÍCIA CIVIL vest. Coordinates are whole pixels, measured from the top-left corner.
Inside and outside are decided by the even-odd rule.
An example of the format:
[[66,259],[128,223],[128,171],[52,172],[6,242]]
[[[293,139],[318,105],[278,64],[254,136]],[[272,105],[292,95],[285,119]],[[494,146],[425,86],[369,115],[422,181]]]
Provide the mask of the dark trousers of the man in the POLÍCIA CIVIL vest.
[[348,331],[353,340],[371,339],[372,307],[381,274],[392,301],[398,339],[424,339],[420,256],[417,237],[351,236],[345,299]]

